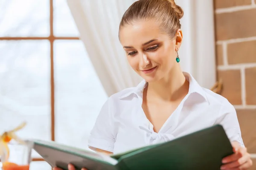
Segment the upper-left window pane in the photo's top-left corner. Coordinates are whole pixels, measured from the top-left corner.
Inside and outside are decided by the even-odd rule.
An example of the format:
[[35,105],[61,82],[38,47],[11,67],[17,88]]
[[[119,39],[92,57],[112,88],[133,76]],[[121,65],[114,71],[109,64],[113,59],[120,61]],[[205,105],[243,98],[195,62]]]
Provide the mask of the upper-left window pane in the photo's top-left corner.
[[0,37],[49,36],[49,0],[1,0]]

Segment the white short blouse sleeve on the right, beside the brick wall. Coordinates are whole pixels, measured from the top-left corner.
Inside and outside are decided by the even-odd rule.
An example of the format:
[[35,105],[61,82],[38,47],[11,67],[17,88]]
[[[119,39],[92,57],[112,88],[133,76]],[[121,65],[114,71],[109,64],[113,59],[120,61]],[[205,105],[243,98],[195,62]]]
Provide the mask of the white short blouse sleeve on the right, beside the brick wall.
[[236,141],[239,142],[241,146],[244,146],[236,110],[227,99],[222,103],[216,124],[223,126],[230,142]]

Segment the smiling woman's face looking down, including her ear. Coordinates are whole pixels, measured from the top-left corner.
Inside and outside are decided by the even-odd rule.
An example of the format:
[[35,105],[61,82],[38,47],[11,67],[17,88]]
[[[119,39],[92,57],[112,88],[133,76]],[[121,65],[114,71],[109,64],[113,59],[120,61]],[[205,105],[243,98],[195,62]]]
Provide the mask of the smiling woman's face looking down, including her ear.
[[177,65],[175,50],[182,41],[180,30],[177,31],[177,38],[171,40],[155,20],[139,21],[122,27],[119,39],[131,67],[147,82],[168,77]]

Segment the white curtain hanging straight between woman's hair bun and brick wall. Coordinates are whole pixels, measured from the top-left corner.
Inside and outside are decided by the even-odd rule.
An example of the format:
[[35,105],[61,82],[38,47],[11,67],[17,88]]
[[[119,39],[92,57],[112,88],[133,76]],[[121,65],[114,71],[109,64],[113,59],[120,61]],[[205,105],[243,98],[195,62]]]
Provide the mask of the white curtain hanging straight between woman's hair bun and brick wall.
[[183,44],[179,50],[183,71],[211,88],[216,81],[213,0],[176,0],[184,16],[180,20]]

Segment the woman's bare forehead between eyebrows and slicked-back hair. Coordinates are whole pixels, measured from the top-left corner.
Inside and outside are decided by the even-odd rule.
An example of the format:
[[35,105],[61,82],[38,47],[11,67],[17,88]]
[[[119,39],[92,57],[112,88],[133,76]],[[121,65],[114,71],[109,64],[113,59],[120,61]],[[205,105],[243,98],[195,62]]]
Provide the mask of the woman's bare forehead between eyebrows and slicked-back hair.
[[123,46],[141,45],[149,40],[163,39],[166,34],[160,30],[160,24],[154,20],[137,21],[120,29],[119,39]]

